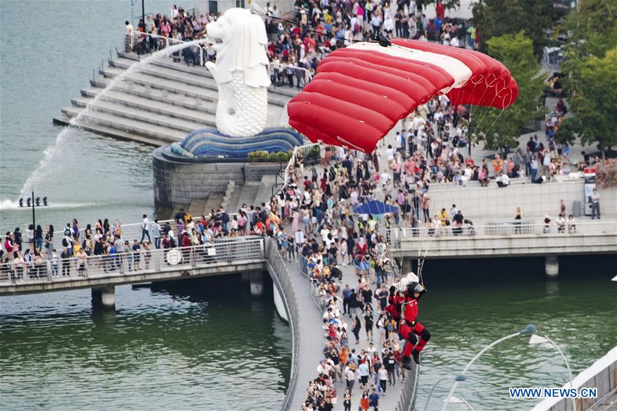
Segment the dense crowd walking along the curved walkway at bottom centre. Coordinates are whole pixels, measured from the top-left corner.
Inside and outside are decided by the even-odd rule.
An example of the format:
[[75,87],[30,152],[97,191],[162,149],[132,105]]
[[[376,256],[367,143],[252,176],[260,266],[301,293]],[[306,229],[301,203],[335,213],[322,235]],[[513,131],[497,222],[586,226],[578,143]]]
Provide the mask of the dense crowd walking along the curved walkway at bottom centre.
[[[324,332],[324,358],[317,366],[317,377],[309,382],[304,411],[332,410],[339,398],[343,408],[350,410],[354,397],[359,398],[359,409],[376,409],[387,388],[404,381],[396,321],[385,311],[386,284],[394,281],[394,266],[385,240],[376,231],[372,224],[355,227],[347,215],[326,216],[315,229],[309,221],[296,232],[298,259],[322,308]],[[343,288],[340,267],[348,262],[354,266],[357,284]],[[363,348],[361,332],[367,340]],[[344,393],[337,392],[336,382],[345,382]],[[359,391],[354,391],[356,382]]]

